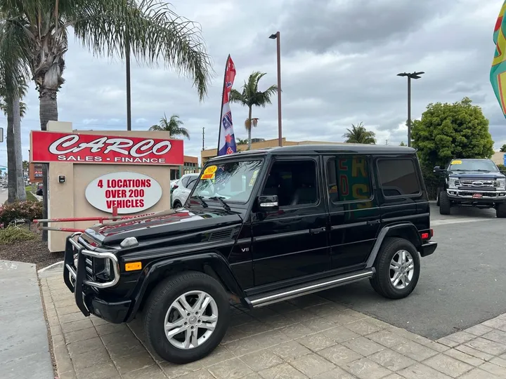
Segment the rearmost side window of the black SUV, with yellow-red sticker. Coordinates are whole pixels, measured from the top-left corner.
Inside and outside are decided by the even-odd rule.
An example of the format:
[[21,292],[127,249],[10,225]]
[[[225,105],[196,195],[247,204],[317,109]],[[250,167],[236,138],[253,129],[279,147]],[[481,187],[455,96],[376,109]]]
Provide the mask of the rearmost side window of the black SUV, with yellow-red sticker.
[[377,166],[384,197],[420,192],[420,182],[413,159],[380,159]]

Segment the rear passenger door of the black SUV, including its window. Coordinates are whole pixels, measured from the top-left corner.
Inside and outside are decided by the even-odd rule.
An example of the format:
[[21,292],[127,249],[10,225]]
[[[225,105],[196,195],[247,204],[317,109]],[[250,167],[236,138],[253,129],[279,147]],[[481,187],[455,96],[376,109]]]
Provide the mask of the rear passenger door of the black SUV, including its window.
[[372,157],[334,154],[324,162],[332,268],[357,270],[365,265],[381,225]]

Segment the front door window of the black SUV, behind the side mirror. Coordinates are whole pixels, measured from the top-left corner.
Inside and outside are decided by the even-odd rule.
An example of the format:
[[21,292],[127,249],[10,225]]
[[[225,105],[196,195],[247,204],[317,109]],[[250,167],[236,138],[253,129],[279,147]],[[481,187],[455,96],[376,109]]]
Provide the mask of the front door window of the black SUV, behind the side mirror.
[[268,174],[262,194],[278,196],[280,207],[316,204],[318,202],[316,162],[276,161]]

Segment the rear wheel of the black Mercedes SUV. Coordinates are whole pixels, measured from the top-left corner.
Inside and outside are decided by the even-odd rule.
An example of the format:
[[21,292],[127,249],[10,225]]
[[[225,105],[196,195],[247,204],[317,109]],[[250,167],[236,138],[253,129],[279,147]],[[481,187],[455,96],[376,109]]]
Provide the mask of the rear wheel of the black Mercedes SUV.
[[420,257],[410,241],[387,238],[378,253],[375,269],[370,283],[377,293],[390,299],[406,298],[420,277]]

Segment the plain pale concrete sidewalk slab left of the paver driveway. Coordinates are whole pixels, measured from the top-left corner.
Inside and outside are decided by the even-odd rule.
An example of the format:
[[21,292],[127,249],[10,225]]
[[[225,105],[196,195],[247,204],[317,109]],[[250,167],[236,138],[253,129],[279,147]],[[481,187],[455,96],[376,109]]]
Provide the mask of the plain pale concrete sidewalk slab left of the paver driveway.
[[53,379],[35,265],[0,260],[0,376]]

